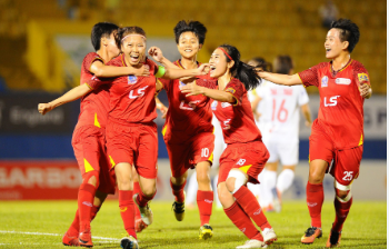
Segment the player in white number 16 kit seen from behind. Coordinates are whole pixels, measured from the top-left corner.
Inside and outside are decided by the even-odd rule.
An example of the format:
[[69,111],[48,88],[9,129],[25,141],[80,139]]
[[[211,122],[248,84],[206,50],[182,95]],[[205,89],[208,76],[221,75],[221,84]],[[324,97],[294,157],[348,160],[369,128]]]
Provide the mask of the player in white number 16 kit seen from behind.
[[[289,56],[277,57],[275,71],[292,74],[292,59]],[[308,101],[302,86],[285,87],[267,81],[256,89],[252,109],[255,113],[260,113],[257,114],[260,116],[257,124],[270,153],[259,179],[260,205],[268,211],[281,210],[281,195],[292,185],[299,155],[299,109],[306,118],[306,126],[311,126]],[[279,161],[283,169],[277,179]]]

